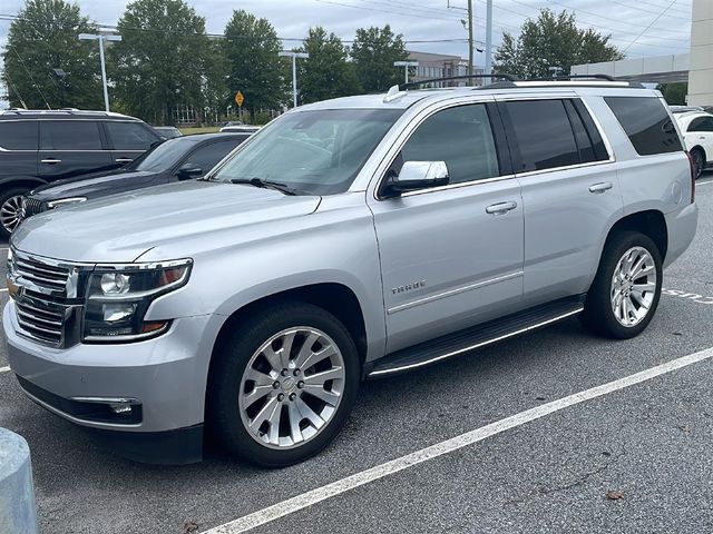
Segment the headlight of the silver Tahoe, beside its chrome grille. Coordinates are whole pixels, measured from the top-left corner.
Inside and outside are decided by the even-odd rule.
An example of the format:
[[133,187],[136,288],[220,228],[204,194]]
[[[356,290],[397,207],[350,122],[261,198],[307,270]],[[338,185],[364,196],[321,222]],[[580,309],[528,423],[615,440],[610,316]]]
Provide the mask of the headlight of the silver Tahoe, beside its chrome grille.
[[169,320],[145,322],[159,295],[188,281],[193,260],[162,264],[97,266],[87,287],[85,342],[130,342],[162,334]]

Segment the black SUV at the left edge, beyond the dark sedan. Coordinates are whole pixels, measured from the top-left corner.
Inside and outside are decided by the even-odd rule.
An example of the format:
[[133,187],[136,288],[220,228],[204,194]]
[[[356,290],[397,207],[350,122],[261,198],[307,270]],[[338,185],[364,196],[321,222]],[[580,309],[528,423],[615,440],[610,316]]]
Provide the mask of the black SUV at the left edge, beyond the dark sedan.
[[145,122],[107,111],[0,112],[0,237],[19,224],[30,189],[121,167],[162,139]]

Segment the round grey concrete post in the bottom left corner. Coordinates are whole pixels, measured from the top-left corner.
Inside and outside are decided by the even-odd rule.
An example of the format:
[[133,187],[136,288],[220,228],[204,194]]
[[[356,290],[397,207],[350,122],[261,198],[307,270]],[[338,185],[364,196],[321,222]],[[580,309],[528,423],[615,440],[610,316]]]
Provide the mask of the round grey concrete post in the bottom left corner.
[[0,532],[38,532],[30,447],[4,428],[0,428]]

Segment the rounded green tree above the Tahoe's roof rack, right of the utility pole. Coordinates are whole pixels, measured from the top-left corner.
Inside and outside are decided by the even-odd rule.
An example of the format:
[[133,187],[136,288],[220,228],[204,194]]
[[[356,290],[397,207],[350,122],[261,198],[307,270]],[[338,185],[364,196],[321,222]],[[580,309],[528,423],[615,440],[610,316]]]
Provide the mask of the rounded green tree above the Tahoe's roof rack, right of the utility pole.
[[495,55],[494,70],[520,78],[553,76],[549,67],[569,73],[573,65],[596,63],[623,59],[624,55],[604,36],[592,28],[580,30],[575,14],[559,14],[543,9],[537,20],[528,19],[515,38],[506,32]]

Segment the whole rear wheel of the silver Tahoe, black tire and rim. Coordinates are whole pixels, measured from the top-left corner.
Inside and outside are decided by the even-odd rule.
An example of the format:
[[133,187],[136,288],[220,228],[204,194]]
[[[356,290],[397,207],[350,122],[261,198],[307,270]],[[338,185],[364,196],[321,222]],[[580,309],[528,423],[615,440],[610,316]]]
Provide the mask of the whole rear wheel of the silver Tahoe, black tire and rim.
[[[637,277],[636,266],[642,259],[644,269]],[[635,337],[656,313],[662,283],[661,253],[654,241],[637,231],[616,234],[602,255],[580,315],[582,323],[604,337]]]

